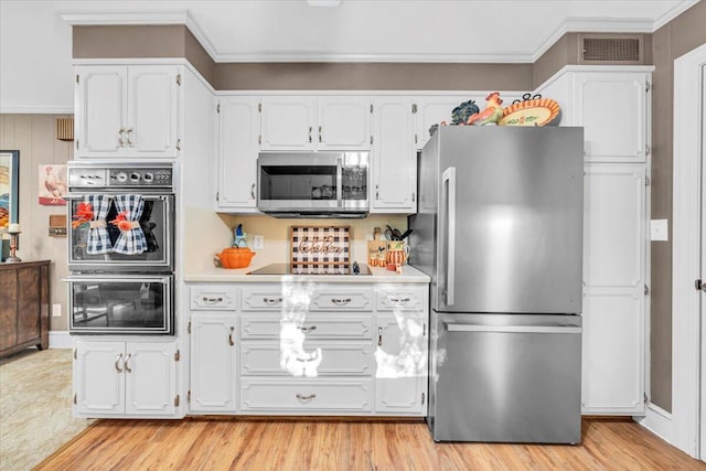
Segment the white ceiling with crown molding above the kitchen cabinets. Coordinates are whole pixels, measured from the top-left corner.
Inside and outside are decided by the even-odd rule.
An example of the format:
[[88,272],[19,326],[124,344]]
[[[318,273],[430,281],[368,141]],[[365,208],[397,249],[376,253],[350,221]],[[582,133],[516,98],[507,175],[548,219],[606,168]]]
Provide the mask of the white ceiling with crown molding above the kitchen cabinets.
[[217,62],[534,62],[566,32],[651,33],[693,0],[57,1],[72,24],[185,23]]

